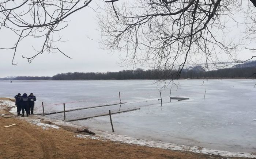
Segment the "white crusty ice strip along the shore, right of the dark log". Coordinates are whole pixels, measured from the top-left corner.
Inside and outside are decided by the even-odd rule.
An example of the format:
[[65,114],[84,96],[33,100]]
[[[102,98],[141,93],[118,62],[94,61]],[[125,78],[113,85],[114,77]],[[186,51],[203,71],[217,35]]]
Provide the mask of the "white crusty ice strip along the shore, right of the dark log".
[[245,157],[245,158],[256,158],[256,155],[247,153],[247,152],[229,152],[229,151],[219,151],[219,150],[211,150],[198,146],[186,146],[181,144],[174,143],[163,143],[161,141],[148,141],[148,140],[140,140],[134,137],[128,137],[117,134],[109,134],[103,133],[102,138],[109,139],[112,141],[118,141],[120,143],[128,143],[128,144],[138,144],[141,146],[149,146],[149,147],[158,147],[169,150],[177,150],[177,151],[188,151],[195,152],[201,154],[210,154],[210,155],[220,155],[223,157]]

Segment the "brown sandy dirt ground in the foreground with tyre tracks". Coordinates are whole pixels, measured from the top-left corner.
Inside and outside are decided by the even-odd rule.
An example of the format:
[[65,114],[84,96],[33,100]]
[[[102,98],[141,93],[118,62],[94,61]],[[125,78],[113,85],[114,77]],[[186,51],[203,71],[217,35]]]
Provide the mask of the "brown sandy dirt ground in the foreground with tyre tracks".
[[[10,113],[8,113],[8,110],[2,109],[0,110],[0,114]],[[4,128],[4,126],[14,123],[16,125]],[[26,120],[0,116],[0,158],[225,158],[215,155],[172,151],[133,144],[120,144],[113,141],[75,137],[78,134],[81,133],[72,131],[72,128],[42,129]]]

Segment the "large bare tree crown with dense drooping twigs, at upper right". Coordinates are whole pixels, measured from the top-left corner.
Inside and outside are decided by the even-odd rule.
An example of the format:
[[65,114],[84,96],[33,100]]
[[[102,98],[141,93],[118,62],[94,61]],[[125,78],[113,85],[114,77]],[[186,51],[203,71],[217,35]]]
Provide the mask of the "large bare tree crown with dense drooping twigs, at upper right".
[[[113,4],[116,1],[120,4]],[[146,63],[180,75],[187,62],[203,61],[207,69],[208,62],[222,62],[222,55],[236,60],[240,42],[222,38],[230,32],[223,17],[234,19],[232,15],[241,10],[240,0],[108,2],[106,14],[99,15],[102,48],[125,52],[127,65]],[[255,11],[254,6],[251,9]],[[250,16],[255,18],[255,14]]]

